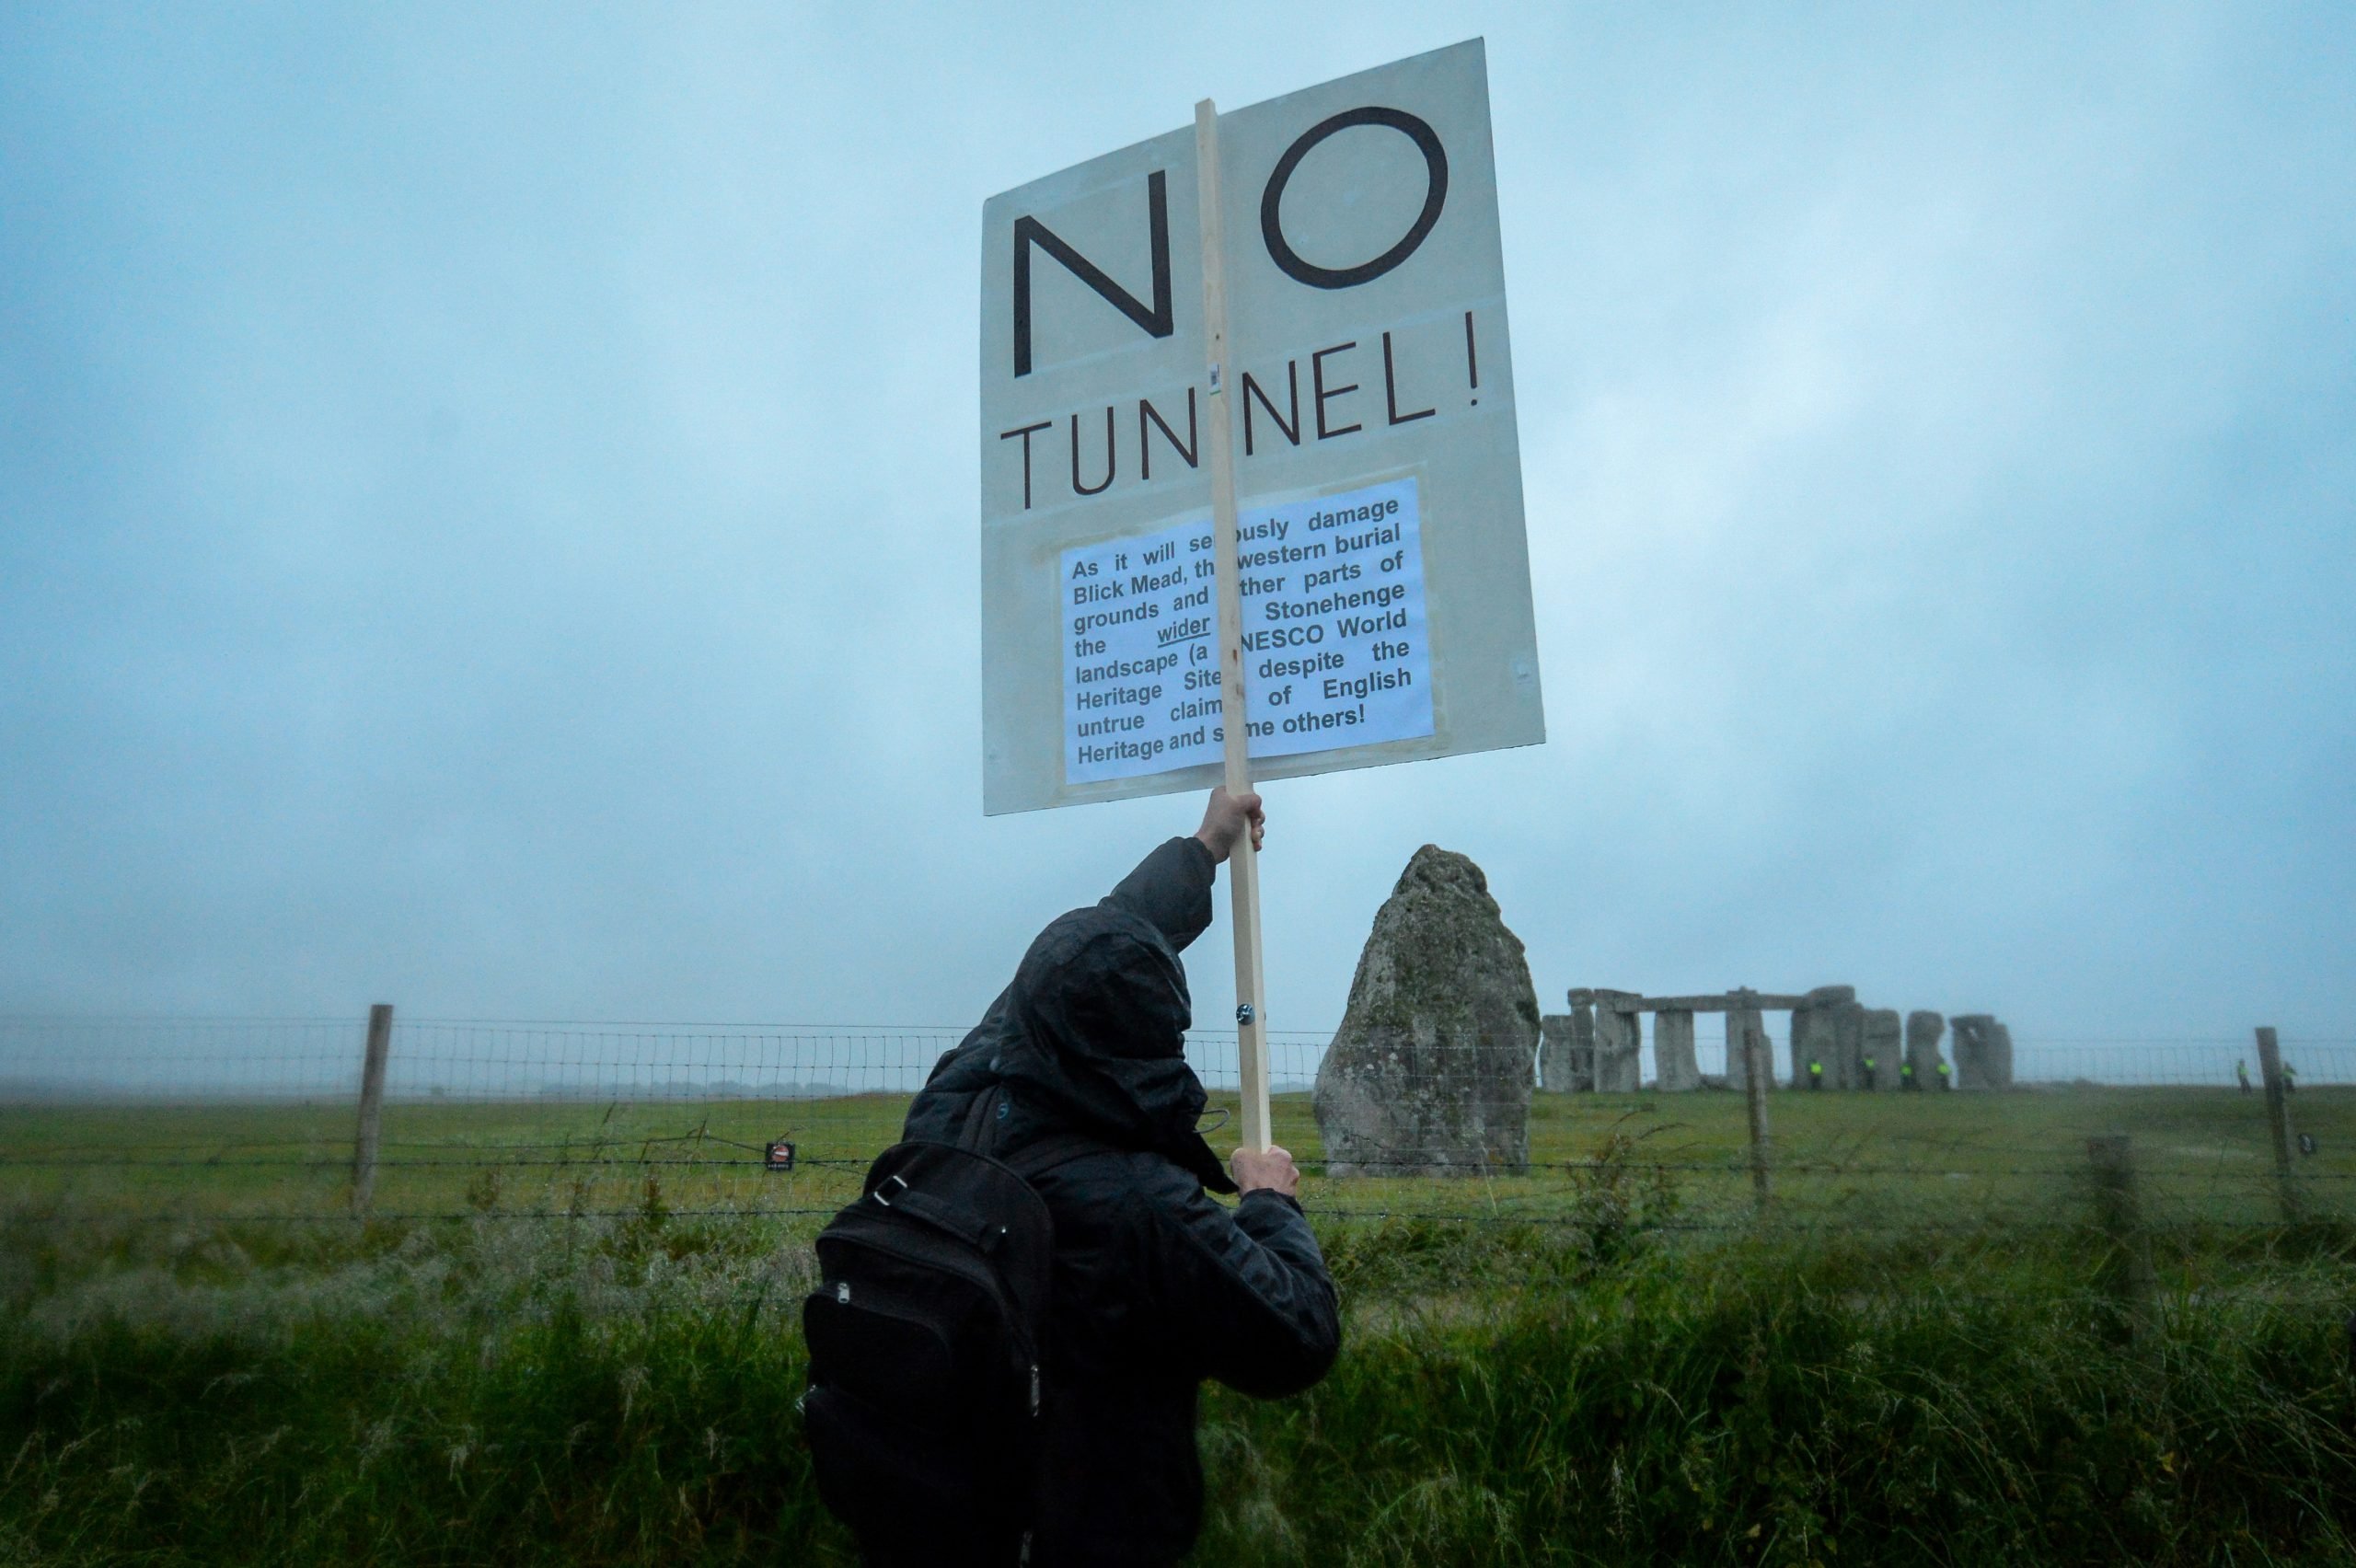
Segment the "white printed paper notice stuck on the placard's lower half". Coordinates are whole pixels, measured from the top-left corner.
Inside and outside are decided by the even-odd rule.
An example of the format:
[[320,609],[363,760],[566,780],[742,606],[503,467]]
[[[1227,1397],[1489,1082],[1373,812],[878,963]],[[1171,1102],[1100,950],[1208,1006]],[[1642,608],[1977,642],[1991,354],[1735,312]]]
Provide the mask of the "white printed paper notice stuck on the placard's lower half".
[[[1432,732],[1416,480],[1237,520],[1251,756]],[[1216,763],[1211,520],[1063,553],[1063,772],[1072,784]]]

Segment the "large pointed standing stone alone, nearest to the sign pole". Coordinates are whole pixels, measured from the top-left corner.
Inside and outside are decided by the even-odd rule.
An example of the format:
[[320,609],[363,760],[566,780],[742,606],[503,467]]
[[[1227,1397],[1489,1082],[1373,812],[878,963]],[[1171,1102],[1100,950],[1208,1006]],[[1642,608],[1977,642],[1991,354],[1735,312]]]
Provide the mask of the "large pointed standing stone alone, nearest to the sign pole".
[[1524,1170],[1536,1048],[1538,994],[1489,878],[1423,845],[1374,916],[1317,1069],[1326,1170]]

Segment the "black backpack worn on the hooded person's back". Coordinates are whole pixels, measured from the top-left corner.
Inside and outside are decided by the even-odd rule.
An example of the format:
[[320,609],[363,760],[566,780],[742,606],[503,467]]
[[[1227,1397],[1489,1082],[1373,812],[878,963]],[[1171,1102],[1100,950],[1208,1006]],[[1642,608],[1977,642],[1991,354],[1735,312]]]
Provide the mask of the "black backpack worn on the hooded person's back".
[[803,1431],[818,1495],[869,1561],[1030,1556],[1055,1224],[1025,1177],[1103,1144],[992,1158],[985,1116],[1001,1104],[978,1095],[957,1144],[886,1149],[818,1234]]

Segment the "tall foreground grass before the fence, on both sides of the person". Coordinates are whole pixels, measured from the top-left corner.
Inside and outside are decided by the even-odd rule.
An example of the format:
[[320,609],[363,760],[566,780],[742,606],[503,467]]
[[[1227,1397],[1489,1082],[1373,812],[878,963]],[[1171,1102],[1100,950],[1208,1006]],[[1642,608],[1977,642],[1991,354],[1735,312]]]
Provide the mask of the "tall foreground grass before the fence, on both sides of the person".
[[[669,1210],[0,1231],[0,1561],[851,1561],[808,1229]],[[2356,1561],[2342,1229],[2165,1231],[2135,1316],[2085,1231],[1680,1212],[1324,1220],[1345,1354],[1206,1401],[1194,1561]]]

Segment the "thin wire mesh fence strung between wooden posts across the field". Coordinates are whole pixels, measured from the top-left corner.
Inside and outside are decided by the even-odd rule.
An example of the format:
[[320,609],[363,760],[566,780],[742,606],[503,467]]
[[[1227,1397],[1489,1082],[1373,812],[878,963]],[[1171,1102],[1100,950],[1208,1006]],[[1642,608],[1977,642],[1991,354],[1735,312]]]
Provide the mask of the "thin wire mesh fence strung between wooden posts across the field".
[[[959,1026],[396,1019],[370,1212],[818,1220],[858,1194]],[[1522,1144],[1432,1175],[1428,1151],[1329,1175],[1315,1083],[1331,1031],[1270,1038],[1275,1137],[1324,1217],[1661,1231],[2083,1224],[2087,1140],[2127,1132],[2158,1227],[2356,1212],[2356,1041],[2285,1038],[2276,1144],[2248,1041],[2024,1038],[2012,1092],[1776,1092],[1760,1210],[1743,1097],[1548,1095]],[[1722,1067],[1701,1041],[1701,1067]],[[1791,1078],[1774,1038],[1776,1081]],[[1437,1050],[1437,1048],[1432,1048]],[[1647,1045],[1649,1050],[1649,1045]],[[1232,1114],[1237,1041],[1187,1057]],[[0,1019],[0,1205],[14,1217],[342,1220],[358,1019]],[[1444,1067],[1425,1052],[1425,1069]],[[1715,1083],[1715,1078],[1708,1078]],[[1213,1130],[1216,1140],[1216,1130]],[[2288,1161],[2283,1149],[2290,1149]]]

